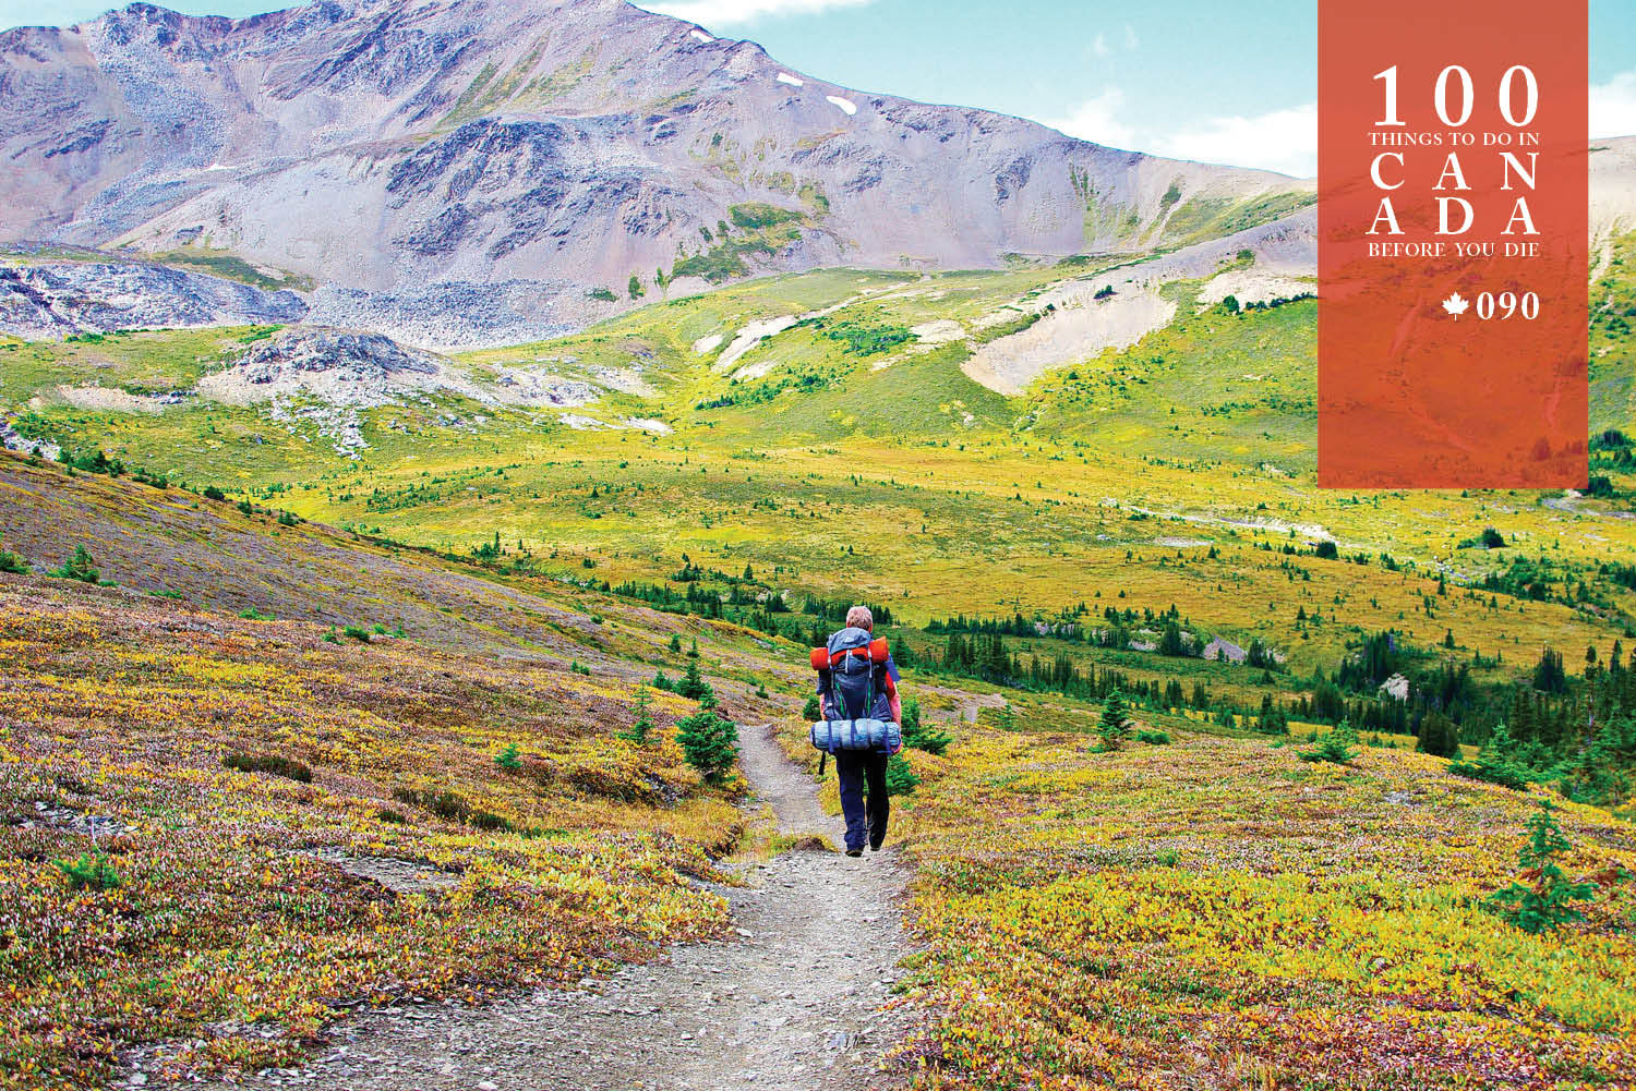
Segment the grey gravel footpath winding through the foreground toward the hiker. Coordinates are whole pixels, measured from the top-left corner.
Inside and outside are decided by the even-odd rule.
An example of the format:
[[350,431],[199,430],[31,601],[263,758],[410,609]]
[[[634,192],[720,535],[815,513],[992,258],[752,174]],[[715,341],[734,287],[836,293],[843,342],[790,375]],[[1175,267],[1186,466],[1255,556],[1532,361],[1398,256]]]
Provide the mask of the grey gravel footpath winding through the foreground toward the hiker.
[[[766,728],[744,728],[741,764],[787,834],[841,844],[813,780]],[[833,774],[831,774],[833,775]],[[671,950],[581,991],[540,991],[486,1008],[396,1006],[337,1027],[301,1070],[240,1086],[386,1091],[859,1091],[892,1083],[875,1058],[893,1037],[880,1004],[906,954],[890,846],[862,859],[785,852],[717,888],[730,941]]]

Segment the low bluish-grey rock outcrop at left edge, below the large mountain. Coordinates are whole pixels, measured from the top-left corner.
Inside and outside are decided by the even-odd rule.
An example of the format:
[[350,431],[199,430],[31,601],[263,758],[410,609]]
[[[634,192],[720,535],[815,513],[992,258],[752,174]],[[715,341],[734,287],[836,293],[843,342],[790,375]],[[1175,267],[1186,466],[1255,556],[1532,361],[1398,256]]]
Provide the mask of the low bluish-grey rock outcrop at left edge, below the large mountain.
[[144,262],[0,265],[0,332],[43,339],[116,329],[298,322],[293,291]]

